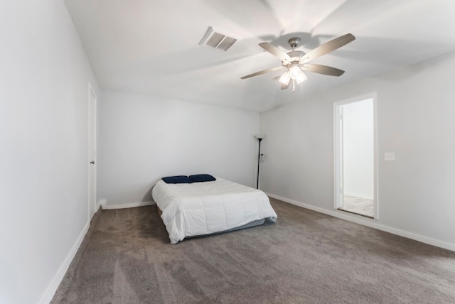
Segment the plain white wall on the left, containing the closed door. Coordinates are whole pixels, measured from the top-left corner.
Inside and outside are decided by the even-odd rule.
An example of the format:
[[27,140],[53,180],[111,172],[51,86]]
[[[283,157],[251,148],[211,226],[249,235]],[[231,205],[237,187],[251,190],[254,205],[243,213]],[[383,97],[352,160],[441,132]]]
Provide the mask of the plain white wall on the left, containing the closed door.
[[0,12],[0,303],[46,303],[88,223],[97,83],[63,1]]

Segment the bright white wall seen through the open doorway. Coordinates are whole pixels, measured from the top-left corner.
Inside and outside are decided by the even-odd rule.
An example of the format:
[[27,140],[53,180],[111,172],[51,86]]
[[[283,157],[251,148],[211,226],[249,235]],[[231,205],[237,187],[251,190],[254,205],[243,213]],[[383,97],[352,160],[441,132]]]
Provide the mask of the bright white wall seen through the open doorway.
[[343,105],[343,192],[374,199],[373,99]]

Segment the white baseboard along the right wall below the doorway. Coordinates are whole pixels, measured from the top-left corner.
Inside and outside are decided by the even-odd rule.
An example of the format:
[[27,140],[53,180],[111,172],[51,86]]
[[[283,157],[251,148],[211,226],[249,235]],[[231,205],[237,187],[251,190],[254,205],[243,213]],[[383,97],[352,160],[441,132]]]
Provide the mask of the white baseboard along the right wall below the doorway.
[[383,224],[378,224],[377,219],[369,219],[368,217],[362,217],[360,215],[354,215],[347,212],[339,211],[339,210],[326,210],[321,207],[315,207],[313,205],[308,205],[303,202],[297,202],[296,200],[289,200],[285,197],[280,197],[278,195],[273,195],[270,193],[266,193],[269,197],[275,198],[277,200],[282,200],[283,202],[288,202],[289,204],[296,205],[299,207],[303,207],[309,210],[313,210],[316,212],[323,213],[325,215],[331,215],[332,217],[338,217],[339,219],[345,219],[349,222],[354,222],[356,224],[361,224],[364,226],[372,227],[384,232],[389,232],[391,234],[399,235],[400,237],[407,237],[408,239],[414,239],[415,241],[421,241],[422,243],[441,247],[444,249],[448,249],[451,251],[455,251],[455,244],[447,243],[445,241],[439,241],[438,239],[432,239],[430,237],[424,237],[419,234],[414,234],[412,232],[407,232],[405,230],[396,229],[393,227],[385,226]]

